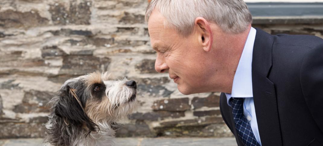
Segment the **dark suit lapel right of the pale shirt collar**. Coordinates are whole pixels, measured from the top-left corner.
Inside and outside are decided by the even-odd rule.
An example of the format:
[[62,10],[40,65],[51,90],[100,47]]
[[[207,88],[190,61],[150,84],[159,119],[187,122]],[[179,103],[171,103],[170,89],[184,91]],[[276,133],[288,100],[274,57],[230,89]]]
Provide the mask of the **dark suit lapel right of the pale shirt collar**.
[[252,59],[252,86],[262,146],[282,146],[274,83],[267,75],[272,66],[274,36],[256,29]]

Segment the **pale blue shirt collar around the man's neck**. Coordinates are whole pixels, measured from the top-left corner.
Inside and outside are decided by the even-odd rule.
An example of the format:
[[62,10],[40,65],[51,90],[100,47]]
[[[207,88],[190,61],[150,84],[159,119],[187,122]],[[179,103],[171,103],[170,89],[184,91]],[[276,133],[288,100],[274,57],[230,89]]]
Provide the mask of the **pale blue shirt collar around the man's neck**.
[[[245,47],[242,51],[237,70],[234,74],[231,94],[225,93],[227,100],[231,97],[253,97],[252,93],[252,52],[256,37],[256,29],[251,27]],[[228,98],[228,95],[230,98]]]

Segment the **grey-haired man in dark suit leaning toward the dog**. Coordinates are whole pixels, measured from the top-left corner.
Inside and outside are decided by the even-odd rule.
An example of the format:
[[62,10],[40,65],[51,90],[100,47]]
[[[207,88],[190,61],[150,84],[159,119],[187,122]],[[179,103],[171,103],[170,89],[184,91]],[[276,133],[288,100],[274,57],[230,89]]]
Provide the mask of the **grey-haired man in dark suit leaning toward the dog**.
[[222,92],[239,146],[323,146],[323,40],[251,27],[242,0],[152,0],[155,69],[183,94]]

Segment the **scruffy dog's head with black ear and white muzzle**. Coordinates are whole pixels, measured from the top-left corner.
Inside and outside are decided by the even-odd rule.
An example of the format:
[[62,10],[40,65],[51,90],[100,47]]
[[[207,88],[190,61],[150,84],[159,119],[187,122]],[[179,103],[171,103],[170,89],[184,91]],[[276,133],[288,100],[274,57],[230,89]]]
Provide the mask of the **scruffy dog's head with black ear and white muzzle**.
[[[49,102],[56,122],[97,131],[99,123],[127,117],[136,105],[136,82],[109,80],[108,73],[91,73],[66,81]],[[89,134],[88,133],[88,134]]]

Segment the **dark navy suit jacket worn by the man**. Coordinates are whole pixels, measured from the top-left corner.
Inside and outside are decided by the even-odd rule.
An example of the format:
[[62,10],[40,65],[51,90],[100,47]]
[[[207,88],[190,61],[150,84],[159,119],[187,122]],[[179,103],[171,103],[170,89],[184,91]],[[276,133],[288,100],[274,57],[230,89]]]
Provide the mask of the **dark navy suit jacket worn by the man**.
[[[252,85],[262,146],[323,146],[323,39],[256,30]],[[220,110],[243,146],[224,93]]]

